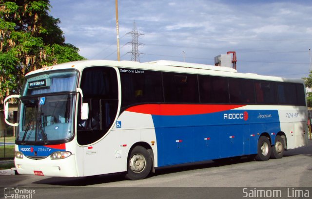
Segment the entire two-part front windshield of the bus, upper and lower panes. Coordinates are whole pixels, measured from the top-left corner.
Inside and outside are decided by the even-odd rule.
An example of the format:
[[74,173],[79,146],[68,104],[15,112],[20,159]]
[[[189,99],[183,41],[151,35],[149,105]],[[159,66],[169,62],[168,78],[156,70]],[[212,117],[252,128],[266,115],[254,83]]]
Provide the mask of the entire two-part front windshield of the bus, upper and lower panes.
[[26,77],[17,142],[51,144],[73,136],[77,78],[76,70]]

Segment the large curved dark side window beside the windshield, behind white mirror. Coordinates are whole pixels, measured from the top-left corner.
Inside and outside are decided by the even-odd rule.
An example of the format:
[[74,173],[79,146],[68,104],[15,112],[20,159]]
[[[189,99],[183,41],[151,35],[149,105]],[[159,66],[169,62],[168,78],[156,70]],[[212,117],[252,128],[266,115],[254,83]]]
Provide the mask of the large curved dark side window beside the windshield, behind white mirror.
[[[78,114],[78,143],[90,144],[102,138],[113,125],[118,108],[118,83],[114,68],[90,67],[82,71],[80,88],[88,103],[89,117]],[[80,113],[81,98],[78,100]]]

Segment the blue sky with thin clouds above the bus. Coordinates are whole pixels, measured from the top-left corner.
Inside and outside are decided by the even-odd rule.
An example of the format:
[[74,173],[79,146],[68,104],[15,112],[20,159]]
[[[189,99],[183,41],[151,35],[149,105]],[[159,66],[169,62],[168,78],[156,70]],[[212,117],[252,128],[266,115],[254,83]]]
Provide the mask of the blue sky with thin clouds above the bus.
[[[50,4],[81,56],[117,60],[115,0]],[[140,62],[214,65],[215,56],[235,51],[241,73],[303,78],[311,69],[311,0],[118,0],[118,21],[120,60],[131,60],[135,22]]]

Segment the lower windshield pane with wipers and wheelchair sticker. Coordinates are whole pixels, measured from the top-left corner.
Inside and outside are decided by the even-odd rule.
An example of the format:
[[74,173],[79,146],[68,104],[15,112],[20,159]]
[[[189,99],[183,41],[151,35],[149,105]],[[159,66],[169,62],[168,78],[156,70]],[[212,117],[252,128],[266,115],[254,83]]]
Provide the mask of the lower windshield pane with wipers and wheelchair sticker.
[[22,144],[69,139],[73,136],[75,94],[21,98],[17,141]]

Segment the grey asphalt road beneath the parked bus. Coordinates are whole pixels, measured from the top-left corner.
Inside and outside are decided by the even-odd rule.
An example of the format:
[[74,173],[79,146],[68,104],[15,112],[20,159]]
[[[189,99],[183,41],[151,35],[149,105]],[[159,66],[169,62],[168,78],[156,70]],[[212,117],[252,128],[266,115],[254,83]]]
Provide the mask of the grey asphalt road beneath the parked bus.
[[[68,192],[75,193],[76,198],[82,197],[82,193],[100,194],[103,191],[108,198],[116,196],[138,198],[144,193],[152,195],[151,198],[176,198],[176,196],[206,198],[207,193],[218,194],[218,198],[220,196],[242,198],[244,187],[257,187],[254,189],[275,187],[283,190],[283,194],[287,194],[285,187],[290,187],[288,190],[290,193],[293,192],[294,187],[304,187],[310,190],[309,197],[312,197],[312,141],[309,141],[305,147],[286,151],[282,159],[258,162],[243,158],[231,163],[207,161],[157,169],[156,174],[150,178],[137,181],[125,180],[122,174],[101,175],[96,178],[16,175],[0,176],[0,186],[34,189],[37,190],[36,196],[41,193],[40,198],[47,199],[55,196],[48,195],[54,190],[65,195]],[[86,196],[90,197],[90,195]],[[97,195],[93,198],[97,198]]]

